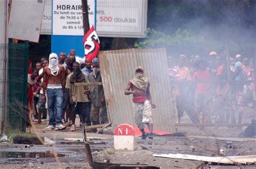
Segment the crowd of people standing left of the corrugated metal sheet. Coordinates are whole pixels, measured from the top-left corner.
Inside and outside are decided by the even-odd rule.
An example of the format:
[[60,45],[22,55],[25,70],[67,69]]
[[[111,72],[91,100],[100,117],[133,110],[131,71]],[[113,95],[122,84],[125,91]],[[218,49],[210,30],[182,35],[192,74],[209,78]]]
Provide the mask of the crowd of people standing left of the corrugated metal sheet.
[[88,82],[102,82],[98,58],[81,59],[71,50],[68,57],[64,52],[51,53],[49,60],[42,58],[35,69],[29,61],[27,124],[41,124],[48,114],[47,129],[70,126],[70,131],[76,131],[77,114],[80,125],[107,123],[103,86],[75,86]]

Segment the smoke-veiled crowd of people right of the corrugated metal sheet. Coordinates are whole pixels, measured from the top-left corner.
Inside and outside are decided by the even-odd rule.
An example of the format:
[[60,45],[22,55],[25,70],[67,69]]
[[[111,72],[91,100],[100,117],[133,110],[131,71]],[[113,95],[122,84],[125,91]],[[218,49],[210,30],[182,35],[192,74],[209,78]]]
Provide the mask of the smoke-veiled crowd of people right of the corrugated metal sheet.
[[[174,116],[180,122],[184,112],[193,123],[228,123],[228,86],[231,85],[232,109],[238,112],[238,123],[246,106],[255,106],[253,61],[240,54],[229,58],[211,52],[207,57],[199,55],[178,59],[168,57],[170,84],[176,96]],[[228,80],[230,74],[230,80]],[[176,103],[175,103],[176,102]]]

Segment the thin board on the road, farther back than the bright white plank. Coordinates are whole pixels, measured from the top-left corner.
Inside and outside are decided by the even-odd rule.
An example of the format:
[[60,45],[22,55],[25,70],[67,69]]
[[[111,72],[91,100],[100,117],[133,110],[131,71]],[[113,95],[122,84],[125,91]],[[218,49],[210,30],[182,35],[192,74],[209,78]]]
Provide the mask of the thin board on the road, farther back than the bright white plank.
[[211,136],[186,136],[188,138],[217,139],[233,142],[256,142],[256,138],[233,138],[233,137],[211,137]]

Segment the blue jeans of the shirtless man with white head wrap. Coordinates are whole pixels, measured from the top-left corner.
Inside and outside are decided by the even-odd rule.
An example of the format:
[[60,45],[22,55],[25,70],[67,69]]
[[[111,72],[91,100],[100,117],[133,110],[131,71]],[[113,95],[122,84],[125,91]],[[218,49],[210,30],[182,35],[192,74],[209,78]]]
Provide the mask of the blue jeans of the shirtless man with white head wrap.
[[62,123],[62,103],[63,103],[63,90],[47,89],[48,110],[49,110],[49,125]]

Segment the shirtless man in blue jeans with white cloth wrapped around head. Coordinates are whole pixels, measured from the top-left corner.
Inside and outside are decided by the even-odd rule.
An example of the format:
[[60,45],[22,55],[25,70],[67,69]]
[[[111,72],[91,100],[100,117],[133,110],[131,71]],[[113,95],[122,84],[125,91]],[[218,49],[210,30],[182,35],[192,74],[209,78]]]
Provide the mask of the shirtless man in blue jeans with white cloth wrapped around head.
[[[48,85],[46,80],[48,79]],[[45,101],[45,90],[47,88],[48,110],[49,110],[49,126],[48,129],[60,130],[65,128],[62,125],[62,102],[65,90],[65,69],[58,65],[58,56],[51,53],[49,56],[49,66],[44,67],[43,71],[43,97]],[[56,111],[55,111],[56,108]]]

